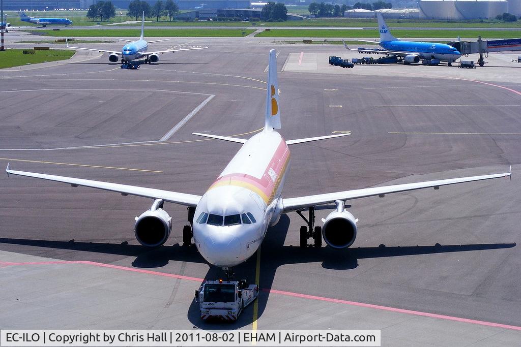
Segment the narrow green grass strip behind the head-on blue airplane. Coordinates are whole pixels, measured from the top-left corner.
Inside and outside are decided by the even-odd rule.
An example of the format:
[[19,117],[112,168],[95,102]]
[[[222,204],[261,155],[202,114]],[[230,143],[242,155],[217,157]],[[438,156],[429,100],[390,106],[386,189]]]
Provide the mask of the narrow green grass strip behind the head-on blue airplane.
[[[67,31],[34,30],[33,32],[46,36],[67,37],[139,37],[139,29],[71,29]],[[241,29],[145,29],[146,37],[241,37],[254,30]],[[243,34],[244,33],[244,34]]]

